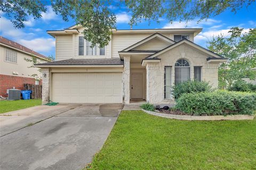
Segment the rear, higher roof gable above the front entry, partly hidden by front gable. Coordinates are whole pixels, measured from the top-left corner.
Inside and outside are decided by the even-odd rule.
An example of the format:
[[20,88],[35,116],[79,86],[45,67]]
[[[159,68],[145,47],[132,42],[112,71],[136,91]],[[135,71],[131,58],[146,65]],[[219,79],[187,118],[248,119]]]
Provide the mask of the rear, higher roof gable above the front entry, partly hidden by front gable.
[[[159,44],[155,45],[155,48],[157,48],[157,49],[151,48],[155,43],[159,43]],[[167,37],[161,35],[160,33],[154,33],[153,35],[151,35],[145,39],[142,39],[138,43],[135,43],[135,44],[131,45],[130,47],[123,49],[121,52],[128,52],[128,51],[132,51],[132,50],[149,50],[149,49],[150,50],[160,50],[160,49],[163,49],[163,48],[170,46],[174,43],[175,43],[175,41],[171,40],[170,38],[167,38]],[[158,46],[158,47],[156,47],[156,46]]]

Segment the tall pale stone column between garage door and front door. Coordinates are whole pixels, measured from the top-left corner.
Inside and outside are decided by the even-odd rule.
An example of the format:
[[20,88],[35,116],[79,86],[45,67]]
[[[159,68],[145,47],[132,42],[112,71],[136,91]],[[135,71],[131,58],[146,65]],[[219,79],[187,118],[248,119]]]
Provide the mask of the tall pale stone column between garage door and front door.
[[124,103],[130,103],[130,57],[124,56],[124,74],[123,74],[123,82],[124,82]]

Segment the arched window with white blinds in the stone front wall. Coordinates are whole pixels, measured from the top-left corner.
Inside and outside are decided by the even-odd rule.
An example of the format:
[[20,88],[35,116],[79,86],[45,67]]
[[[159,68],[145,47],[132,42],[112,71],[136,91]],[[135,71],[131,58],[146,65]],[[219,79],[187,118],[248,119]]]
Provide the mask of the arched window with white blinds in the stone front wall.
[[175,85],[190,80],[190,66],[187,60],[180,59],[175,63]]

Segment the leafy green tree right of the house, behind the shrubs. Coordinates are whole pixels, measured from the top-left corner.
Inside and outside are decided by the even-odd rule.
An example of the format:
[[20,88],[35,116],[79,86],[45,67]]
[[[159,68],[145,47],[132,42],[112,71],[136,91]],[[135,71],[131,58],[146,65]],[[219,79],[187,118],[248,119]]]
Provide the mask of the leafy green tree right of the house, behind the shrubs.
[[228,58],[219,66],[220,88],[230,88],[235,80],[256,77],[252,70],[256,67],[256,29],[244,32],[244,29],[234,27],[229,32],[231,36],[228,38],[219,35],[208,42],[210,50]]

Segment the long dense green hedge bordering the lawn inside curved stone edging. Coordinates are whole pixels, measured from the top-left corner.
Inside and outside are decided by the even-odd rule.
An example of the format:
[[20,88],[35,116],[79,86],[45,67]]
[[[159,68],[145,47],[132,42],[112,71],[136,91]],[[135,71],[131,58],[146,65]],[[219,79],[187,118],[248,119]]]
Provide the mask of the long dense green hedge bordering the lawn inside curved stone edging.
[[256,93],[219,90],[184,94],[175,108],[191,115],[251,115],[256,111]]

